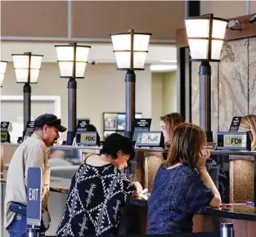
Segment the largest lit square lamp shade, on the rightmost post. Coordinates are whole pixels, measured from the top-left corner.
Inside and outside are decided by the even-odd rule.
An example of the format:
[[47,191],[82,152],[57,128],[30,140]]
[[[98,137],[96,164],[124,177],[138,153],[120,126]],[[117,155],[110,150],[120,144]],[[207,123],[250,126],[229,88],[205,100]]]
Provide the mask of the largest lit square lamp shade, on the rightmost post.
[[228,20],[213,14],[184,18],[191,60],[219,61]]

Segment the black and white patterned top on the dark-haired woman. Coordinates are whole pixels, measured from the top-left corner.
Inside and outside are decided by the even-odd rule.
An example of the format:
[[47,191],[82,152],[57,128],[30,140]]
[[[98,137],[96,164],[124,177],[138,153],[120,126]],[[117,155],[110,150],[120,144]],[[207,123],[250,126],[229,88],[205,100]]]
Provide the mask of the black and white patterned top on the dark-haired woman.
[[83,163],[74,175],[58,236],[113,235],[120,208],[135,186],[113,164],[94,167]]

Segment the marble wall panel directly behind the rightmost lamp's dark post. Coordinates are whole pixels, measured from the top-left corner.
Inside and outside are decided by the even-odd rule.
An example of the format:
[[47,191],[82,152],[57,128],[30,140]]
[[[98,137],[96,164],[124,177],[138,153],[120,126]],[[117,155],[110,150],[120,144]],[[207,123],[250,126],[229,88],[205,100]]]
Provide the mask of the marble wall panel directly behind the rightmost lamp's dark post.
[[[218,63],[210,63],[212,68],[212,131],[213,141],[218,131]],[[200,79],[199,79],[200,62],[192,62],[192,123],[200,125]]]

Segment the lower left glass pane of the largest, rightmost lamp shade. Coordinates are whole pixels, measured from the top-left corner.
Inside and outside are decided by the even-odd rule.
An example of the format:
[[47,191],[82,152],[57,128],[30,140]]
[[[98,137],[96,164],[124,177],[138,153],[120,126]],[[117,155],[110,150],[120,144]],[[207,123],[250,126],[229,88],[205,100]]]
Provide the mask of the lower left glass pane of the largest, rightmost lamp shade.
[[191,59],[207,59],[208,40],[188,39],[191,52]]

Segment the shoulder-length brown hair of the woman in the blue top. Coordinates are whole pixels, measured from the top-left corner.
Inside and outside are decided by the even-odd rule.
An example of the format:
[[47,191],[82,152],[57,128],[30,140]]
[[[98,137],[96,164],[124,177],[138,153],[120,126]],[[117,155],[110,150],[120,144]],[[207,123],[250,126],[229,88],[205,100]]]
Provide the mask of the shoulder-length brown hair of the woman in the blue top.
[[196,168],[200,150],[203,149],[205,142],[205,133],[201,127],[192,123],[182,123],[174,130],[168,158],[162,163],[162,167],[168,168],[180,162],[190,168]]

